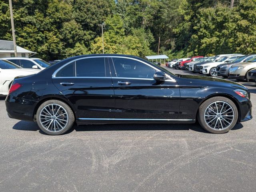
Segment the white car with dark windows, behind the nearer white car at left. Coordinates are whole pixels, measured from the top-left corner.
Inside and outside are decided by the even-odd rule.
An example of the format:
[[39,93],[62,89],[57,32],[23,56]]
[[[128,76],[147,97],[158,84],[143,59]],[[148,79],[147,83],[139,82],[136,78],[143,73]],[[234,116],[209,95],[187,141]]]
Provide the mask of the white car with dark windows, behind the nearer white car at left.
[[43,70],[49,66],[46,61],[39,59],[39,58],[26,58],[26,57],[9,57],[9,58],[3,58],[5,60],[8,60],[21,68],[27,68],[27,69],[40,69]]

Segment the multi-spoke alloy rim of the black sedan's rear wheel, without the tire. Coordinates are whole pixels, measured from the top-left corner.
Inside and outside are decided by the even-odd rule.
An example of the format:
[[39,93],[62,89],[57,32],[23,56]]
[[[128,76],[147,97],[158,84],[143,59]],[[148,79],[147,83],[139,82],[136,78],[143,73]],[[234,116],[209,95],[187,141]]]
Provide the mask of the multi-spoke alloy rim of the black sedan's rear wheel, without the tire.
[[59,132],[68,123],[66,110],[58,104],[49,104],[40,111],[40,123],[50,132]]

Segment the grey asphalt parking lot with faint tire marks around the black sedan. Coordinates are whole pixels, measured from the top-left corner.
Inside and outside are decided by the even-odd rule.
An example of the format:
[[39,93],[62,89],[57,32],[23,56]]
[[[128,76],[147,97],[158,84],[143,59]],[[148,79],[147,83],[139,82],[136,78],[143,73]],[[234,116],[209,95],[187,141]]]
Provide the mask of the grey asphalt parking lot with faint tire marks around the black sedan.
[[[256,106],[256,84],[240,83]],[[252,116],[226,134],[199,124],[110,124],[48,136],[8,118],[0,98],[0,192],[255,191],[255,107]]]

